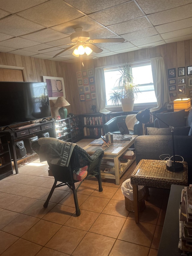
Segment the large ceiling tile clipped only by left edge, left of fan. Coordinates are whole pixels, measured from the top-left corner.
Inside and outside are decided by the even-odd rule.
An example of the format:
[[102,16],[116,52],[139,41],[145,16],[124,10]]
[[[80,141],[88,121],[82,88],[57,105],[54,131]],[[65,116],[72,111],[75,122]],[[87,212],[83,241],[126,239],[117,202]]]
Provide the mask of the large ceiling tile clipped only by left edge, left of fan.
[[25,35],[40,29],[44,29],[44,27],[17,15],[11,15],[0,20],[0,32],[6,32],[6,34],[13,36]]

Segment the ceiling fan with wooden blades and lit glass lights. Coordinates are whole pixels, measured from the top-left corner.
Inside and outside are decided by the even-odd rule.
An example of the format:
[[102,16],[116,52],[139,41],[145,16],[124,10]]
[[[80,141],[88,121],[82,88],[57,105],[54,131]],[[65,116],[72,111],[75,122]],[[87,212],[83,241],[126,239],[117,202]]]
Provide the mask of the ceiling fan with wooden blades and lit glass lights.
[[[67,44],[70,46],[65,48],[61,52],[55,54],[55,56],[53,56],[53,58],[57,57],[61,53],[64,53],[65,51],[72,49],[74,47],[76,47],[76,48],[72,54],[76,57],[79,57],[79,55],[82,55],[84,53],[86,53],[87,55],[91,54],[92,52],[101,53],[103,50],[100,49],[99,47],[95,46],[94,44],[97,44],[97,43],[123,43],[125,41],[125,39],[123,39],[123,38],[90,39],[89,33],[86,31],[83,31],[82,27],[76,28],[75,32],[70,35],[70,39],[72,41],[71,45]],[[58,45],[58,46],[61,46],[61,45]],[[50,49],[50,48],[53,48],[53,47],[41,49],[39,51]]]

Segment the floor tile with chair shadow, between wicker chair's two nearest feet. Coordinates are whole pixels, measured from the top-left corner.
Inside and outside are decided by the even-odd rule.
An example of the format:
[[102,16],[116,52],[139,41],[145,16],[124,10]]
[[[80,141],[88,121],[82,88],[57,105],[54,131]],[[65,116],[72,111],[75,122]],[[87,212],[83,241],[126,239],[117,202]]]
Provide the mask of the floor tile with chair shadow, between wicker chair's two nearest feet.
[[74,207],[57,204],[43,217],[43,219],[63,225],[74,212]]

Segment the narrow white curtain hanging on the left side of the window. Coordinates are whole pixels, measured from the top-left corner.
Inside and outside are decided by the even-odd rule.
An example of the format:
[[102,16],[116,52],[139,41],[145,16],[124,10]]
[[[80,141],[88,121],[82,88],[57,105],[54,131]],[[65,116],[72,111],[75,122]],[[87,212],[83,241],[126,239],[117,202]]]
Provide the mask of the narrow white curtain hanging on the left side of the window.
[[111,111],[105,108],[106,93],[105,93],[105,76],[103,68],[95,68],[95,90],[96,90],[96,102],[97,112],[108,114]]

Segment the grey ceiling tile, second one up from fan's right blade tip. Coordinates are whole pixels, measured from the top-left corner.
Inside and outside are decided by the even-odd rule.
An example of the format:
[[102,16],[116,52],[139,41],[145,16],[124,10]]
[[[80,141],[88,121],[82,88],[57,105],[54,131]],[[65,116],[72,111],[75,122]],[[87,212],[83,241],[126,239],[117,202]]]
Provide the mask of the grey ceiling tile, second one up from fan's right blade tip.
[[152,24],[146,19],[146,17],[128,20],[112,26],[108,26],[110,30],[118,35],[123,35],[134,31],[139,31],[141,29],[147,29],[150,27],[152,27]]

